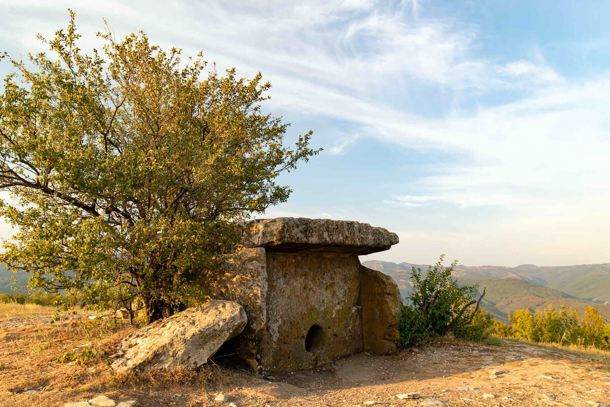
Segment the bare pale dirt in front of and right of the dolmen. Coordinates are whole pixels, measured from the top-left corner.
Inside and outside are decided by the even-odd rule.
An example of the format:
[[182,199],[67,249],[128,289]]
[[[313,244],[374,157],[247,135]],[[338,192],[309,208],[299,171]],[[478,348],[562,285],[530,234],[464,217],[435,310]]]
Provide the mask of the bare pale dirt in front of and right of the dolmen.
[[[397,356],[356,355],[326,370],[278,380],[303,387],[309,394],[275,400],[275,406],[367,406],[368,401],[379,406],[416,406],[429,399],[447,406],[594,406],[610,402],[607,364],[564,350],[508,341],[496,347],[442,340]],[[396,397],[409,392],[419,392],[420,399]],[[266,404],[264,399],[239,403]]]

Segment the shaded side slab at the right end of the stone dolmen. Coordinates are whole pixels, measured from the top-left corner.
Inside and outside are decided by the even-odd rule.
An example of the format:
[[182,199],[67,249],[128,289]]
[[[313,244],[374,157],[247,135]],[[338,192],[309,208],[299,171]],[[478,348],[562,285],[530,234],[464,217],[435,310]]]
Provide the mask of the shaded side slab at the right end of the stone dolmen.
[[360,266],[360,301],[364,350],[378,355],[398,352],[400,292],[394,280],[377,270]]

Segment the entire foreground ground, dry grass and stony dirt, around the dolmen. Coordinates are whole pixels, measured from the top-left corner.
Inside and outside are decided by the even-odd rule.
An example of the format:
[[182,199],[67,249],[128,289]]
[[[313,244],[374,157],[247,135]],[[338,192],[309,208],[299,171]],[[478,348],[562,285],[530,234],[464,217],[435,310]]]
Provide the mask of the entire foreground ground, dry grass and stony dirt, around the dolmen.
[[[198,373],[182,381],[159,380],[147,386],[129,381],[117,384],[103,357],[82,366],[57,362],[57,355],[87,339],[87,335],[68,336],[80,332],[78,324],[82,322],[50,325],[44,319],[0,323],[0,406],[60,407],[99,395],[117,405],[136,400],[140,407],[610,404],[606,359],[509,341],[495,346],[442,339],[395,356],[361,354],[314,372],[268,380],[210,367],[215,373],[207,372],[205,377]],[[109,353],[128,330],[103,331],[103,337],[89,334],[88,340]],[[397,397],[409,393],[417,393],[419,398]]]

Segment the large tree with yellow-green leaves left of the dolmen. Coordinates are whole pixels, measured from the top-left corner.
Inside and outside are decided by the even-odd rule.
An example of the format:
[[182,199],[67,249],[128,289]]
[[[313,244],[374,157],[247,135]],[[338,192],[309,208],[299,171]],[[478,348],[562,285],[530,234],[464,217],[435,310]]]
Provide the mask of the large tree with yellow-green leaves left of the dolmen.
[[[205,298],[189,284],[237,243],[235,221],[284,202],[276,177],[319,150],[262,112],[260,73],[224,76],[143,32],[101,52],[77,45],[74,13],[54,57],[10,59],[0,95],[0,215],[19,232],[1,261],[29,287],[102,306],[138,301],[148,321]],[[4,54],[4,56],[6,56]],[[131,309],[131,308],[130,308]]]

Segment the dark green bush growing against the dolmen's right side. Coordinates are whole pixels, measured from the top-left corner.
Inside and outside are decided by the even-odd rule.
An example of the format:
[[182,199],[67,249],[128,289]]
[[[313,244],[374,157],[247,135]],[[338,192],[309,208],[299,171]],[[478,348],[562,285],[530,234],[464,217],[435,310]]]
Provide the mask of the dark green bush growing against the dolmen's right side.
[[[488,321],[490,316],[479,312],[478,306],[483,295],[478,301],[472,300],[477,293],[477,287],[459,286],[451,276],[458,262],[454,261],[450,267],[443,267],[443,259],[444,256],[440,256],[434,267],[428,267],[425,277],[422,276],[420,268],[412,268],[414,292],[408,298],[409,304],[403,306],[400,318],[400,343],[404,347],[448,331],[453,331],[456,336],[459,333],[466,338],[482,338],[492,324]],[[471,309],[473,304],[476,304],[476,307]],[[478,325],[470,326],[477,317]]]

